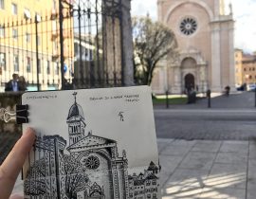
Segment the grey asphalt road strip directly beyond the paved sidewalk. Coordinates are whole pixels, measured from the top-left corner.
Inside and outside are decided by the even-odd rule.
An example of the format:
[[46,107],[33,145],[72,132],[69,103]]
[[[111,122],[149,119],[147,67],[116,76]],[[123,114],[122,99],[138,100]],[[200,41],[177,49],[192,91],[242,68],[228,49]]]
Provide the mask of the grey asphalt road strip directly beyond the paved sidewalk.
[[248,140],[256,137],[256,110],[155,110],[157,137]]

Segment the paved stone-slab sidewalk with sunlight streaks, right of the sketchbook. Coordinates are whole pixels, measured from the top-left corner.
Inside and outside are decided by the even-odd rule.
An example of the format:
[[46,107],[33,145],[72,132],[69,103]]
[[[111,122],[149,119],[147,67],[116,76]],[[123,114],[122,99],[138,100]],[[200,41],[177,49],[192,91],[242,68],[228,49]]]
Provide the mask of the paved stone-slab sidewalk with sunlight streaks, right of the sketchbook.
[[163,199],[256,198],[256,141],[157,143]]

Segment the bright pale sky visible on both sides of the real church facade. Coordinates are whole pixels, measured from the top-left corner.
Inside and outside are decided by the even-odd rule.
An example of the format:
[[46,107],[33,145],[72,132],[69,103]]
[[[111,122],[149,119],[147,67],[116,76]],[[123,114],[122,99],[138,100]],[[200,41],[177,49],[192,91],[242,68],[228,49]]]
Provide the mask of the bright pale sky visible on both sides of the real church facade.
[[[229,2],[235,20],[235,47],[246,52],[256,51],[256,0],[226,0],[227,11]],[[147,12],[157,19],[156,0],[132,0],[133,16],[145,16]]]

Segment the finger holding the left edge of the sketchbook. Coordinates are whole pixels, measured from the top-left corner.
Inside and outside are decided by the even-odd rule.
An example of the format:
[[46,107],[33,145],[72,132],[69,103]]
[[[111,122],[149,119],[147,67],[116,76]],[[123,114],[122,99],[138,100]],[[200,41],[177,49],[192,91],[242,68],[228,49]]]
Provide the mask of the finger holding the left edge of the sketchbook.
[[35,141],[34,130],[28,128],[23,136],[17,141],[6,160],[0,167],[0,198],[8,198],[17,176],[21,171],[27,154]]

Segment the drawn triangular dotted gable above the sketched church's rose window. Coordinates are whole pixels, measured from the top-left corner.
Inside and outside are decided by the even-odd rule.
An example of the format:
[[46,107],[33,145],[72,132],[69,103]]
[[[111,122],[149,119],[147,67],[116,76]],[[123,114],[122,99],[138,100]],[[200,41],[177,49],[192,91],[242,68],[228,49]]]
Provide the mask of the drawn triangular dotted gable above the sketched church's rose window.
[[88,134],[88,136],[84,136],[81,140],[78,142],[70,145],[67,149],[76,149],[76,148],[87,148],[92,146],[101,146],[101,145],[107,145],[107,144],[113,144],[117,143],[115,140],[108,139],[101,136],[92,136],[91,133]]

